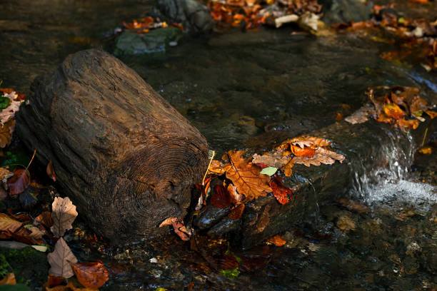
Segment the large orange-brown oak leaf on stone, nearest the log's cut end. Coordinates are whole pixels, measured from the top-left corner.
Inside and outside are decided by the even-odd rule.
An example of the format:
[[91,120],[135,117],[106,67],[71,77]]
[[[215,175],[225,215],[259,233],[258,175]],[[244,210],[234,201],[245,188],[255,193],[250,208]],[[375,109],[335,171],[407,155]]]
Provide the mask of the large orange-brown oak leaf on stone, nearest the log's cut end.
[[226,178],[232,181],[238,193],[246,196],[244,200],[246,202],[259,196],[266,196],[271,192],[271,188],[268,185],[270,177],[261,174],[261,168],[242,158],[243,153],[242,150],[236,152],[231,150],[227,153]]

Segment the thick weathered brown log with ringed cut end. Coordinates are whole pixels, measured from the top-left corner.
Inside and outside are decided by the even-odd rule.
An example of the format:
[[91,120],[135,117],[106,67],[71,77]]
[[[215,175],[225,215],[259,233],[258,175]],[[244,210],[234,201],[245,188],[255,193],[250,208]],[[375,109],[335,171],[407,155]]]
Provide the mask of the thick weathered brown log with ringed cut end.
[[114,244],[167,231],[159,223],[186,213],[208,165],[201,133],[104,51],[80,51],[36,78],[16,118],[79,216]]

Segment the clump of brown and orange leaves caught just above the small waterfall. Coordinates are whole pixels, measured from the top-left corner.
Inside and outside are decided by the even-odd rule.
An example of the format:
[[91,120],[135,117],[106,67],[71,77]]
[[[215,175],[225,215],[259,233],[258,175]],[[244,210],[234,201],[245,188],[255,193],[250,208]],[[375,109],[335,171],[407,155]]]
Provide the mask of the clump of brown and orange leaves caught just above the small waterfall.
[[433,106],[419,97],[419,89],[416,87],[393,86],[379,87],[381,95],[376,97],[376,89],[368,88],[367,96],[371,103],[366,104],[351,116],[345,118],[348,123],[356,124],[374,118],[381,123],[389,123],[402,130],[418,128],[419,121],[425,121],[423,115],[430,118],[437,116],[436,111],[432,111]]

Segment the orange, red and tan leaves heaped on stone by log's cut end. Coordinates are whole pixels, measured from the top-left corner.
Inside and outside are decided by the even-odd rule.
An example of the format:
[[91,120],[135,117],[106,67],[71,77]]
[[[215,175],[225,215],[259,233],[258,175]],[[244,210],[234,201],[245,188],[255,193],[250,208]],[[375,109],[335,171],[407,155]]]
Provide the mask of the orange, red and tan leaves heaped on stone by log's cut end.
[[[254,154],[244,158],[243,150],[230,150],[221,160],[212,160],[205,175],[204,182],[196,185],[201,190],[196,210],[206,205],[207,197],[212,192],[209,203],[218,208],[229,208],[228,218],[241,218],[245,203],[271,193],[278,203],[289,203],[293,198],[293,190],[283,185],[282,176],[290,176],[294,164],[331,165],[338,160],[343,162],[344,156],[333,152],[328,147],[331,141],[324,138],[301,136],[284,141],[271,153]],[[214,189],[211,181],[218,179]],[[191,231],[187,230],[181,218],[167,218],[161,223],[173,225],[182,240],[189,240]]]

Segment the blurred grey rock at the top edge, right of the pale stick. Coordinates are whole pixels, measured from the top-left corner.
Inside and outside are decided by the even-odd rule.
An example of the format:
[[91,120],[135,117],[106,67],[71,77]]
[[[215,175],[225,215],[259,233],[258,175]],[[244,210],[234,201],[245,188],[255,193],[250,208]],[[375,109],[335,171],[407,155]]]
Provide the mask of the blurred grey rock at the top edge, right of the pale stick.
[[366,5],[361,0],[324,0],[323,22],[337,24],[348,21],[367,21],[371,17],[372,1]]

